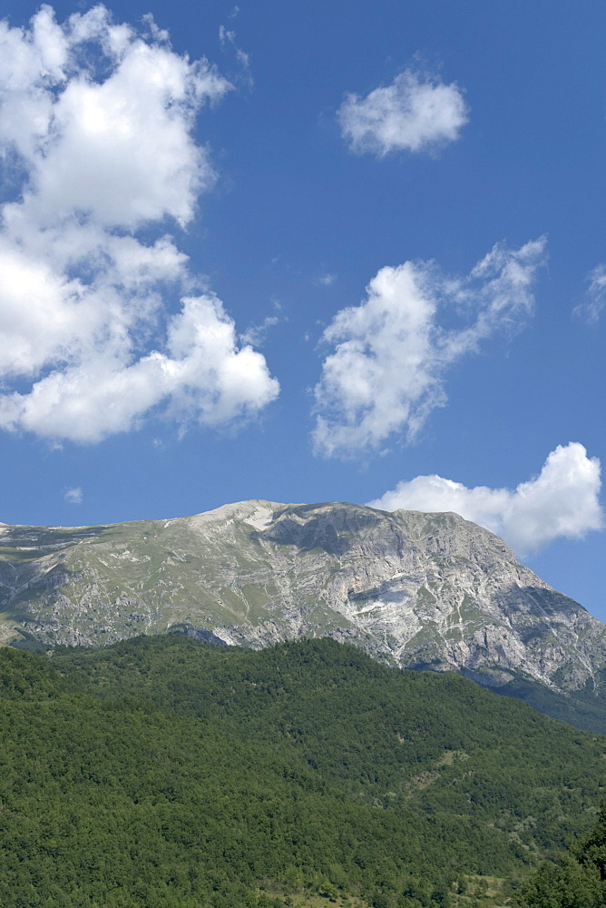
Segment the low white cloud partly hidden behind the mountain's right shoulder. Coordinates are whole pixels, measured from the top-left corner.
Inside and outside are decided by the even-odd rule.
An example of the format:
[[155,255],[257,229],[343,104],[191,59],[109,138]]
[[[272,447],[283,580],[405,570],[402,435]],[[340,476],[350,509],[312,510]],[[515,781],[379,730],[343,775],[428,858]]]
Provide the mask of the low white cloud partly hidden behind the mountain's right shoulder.
[[516,489],[467,489],[441,476],[417,476],[368,504],[389,511],[455,511],[527,555],[554,539],[581,538],[603,528],[600,473],[600,460],[588,458],[582,444],[572,441],[558,445],[539,476]]

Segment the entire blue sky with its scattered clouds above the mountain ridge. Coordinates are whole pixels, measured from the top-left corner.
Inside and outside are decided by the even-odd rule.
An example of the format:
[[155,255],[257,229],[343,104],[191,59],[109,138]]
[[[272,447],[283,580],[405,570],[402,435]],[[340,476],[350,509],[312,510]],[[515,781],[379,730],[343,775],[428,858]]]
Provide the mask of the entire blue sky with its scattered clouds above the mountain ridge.
[[606,8],[3,8],[0,519],[453,509],[606,619]]

